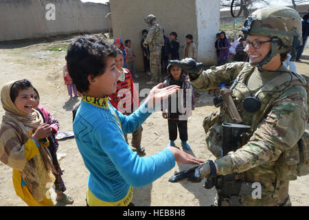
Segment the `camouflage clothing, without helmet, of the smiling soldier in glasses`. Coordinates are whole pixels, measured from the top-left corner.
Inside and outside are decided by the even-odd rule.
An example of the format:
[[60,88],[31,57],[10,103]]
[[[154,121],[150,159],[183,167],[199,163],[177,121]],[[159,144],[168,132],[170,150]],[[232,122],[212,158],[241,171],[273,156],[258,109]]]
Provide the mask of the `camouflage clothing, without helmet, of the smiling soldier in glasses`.
[[[284,65],[278,70],[288,71]],[[258,74],[258,72],[260,72],[258,67],[251,67],[249,63],[229,63],[203,71],[196,80],[192,80],[192,85],[202,90],[212,89],[219,87],[220,83],[229,83],[238,76],[240,76],[239,81],[241,83],[247,83],[248,78],[253,74]],[[264,72],[263,75],[270,77],[270,80],[282,78],[282,76],[272,77],[272,74],[273,72]],[[287,78],[290,78],[290,76]],[[285,203],[288,198],[290,177],[278,176],[279,169],[282,168],[280,156],[285,151],[295,149],[297,141],[305,131],[308,105],[307,92],[303,83],[306,83],[304,78],[293,75],[293,83],[288,89],[285,89],[283,94],[277,94],[279,97],[275,99],[271,106],[268,106],[268,102],[274,94],[260,94],[262,106],[260,111],[255,113],[244,111],[242,101],[249,97],[250,93],[246,87],[238,83],[232,90],[233,99],[242,116],[243,124],[251,126],[253,134],[247,137],[250,138],[247,144],[244,144],[236,152],[230,152],[225,157],[220,157],[222,149],[221,123],[233,123],[233,120],[231,120],[226,109],[222,107],[220,114],[211,118],[208,127],[205,124],[205,131],[209,129],[206,134],[207,147],[216,157],[220,157],[216,159],[218,174],[238,173],[238,178],[242,181],[260,182],[265,187],[262,192],[262,199],[253,199],[251,195],[240,195],[244,201],[243,206],[276,206]],[[279,90],[279,87],[276,90]],[[260,88],[249,89],[255,94]],[[265,109],[267,109],[266,113],[264,113]],[[211,127],[209,128],[209,126]],[[293,155],[289,159],[293,159]],[[290,165],[297,164],[293,160],[288,163]]]

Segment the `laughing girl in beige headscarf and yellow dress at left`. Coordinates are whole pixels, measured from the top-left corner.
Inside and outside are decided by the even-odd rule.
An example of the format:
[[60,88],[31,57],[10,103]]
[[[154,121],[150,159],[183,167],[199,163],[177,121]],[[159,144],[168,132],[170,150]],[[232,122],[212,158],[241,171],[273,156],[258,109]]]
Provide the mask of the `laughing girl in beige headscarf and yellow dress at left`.
[[34,105],[34,91],[29,80],[3,85],[1,103],[5,114],[0,125],[0,161],[13,168],[16,195],[28,206],[54,206],[49,189],[55,181],[54,166],[47,149],[49,124]]

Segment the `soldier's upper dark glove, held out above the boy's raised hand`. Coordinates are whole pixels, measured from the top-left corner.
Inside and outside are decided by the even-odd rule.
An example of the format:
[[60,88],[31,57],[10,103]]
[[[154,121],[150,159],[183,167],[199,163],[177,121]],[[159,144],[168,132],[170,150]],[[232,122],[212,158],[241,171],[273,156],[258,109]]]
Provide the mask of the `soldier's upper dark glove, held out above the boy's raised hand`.
[[172,60],[168,62],[174,67],[183,69],[183,72],[187,72],[193,80],[198,78],[203,71],[203,63],[196,63],[192,58],[185,58],[181,61]]

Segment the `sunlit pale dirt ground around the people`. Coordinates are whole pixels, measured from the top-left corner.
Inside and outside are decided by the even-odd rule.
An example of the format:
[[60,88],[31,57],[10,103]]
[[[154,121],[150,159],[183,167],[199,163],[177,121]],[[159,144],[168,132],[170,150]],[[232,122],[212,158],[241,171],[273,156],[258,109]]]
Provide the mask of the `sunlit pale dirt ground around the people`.
[[[29,79],[41,96],[41,105],[48,109],[60,122],[60,131],[73,131],[71,110],[80,98],[69,99],[67,89],[62,78],[62,66],[65,64],[65,54],[69,39],[54,41],[52,43],[24,43],[15,45],[0,45],[0,87],[10,80]],[[300,63],[296,63],[297,72],[308,74],[309,50],[306,49]],[[148,76],[139,72],[139,91],[146,88]],[[205,115],[216,108],[212,102],[213,95],[203,92],[196,98],[196,109],[188,121],[188,143],[195,155],[205,161],[215,159],[207,150],[205,133],[202,122]],[[143,97],[140,97],[142,100]],[[0,115],[4,113],[0,107]],[[161,117],[161,112],[152,113],[143,124],[142,146],[146,148],[146,154],[153,155],[168,144],[168,122]],[[308,125],[307,125],[308,129]],[[130,135],[128,135],[130,141]],[[87,192],[88,170],[84,166],[82,157],[78,151],[75,140],[67,139],[59,142],[58,153],[66,153],[66,157],[60,160],[60,166],[65,169],[62,178],[67,186],[67,193],[75,199],[72,206],[85,206]],[[181,148],[180,140],[176,140],[176,146]],[[176,164],[172,170],[152,184],[143,188],[135,188],[133,203],[136,206],[210,206],[214,203],[215,190],[203,188],[204,182],[191,184],[171,184],[168,178],[174,171],[185,170],[192,165]],[[309,206],[309,175],[299,177],[290,183],[290,198],[293,206]],[[56,194],[52,190],[52,199],[56,206],[64,206],[56,203]],[[0,162],[0,206],[26,206],[16,196],[12,184],[12,168]]]

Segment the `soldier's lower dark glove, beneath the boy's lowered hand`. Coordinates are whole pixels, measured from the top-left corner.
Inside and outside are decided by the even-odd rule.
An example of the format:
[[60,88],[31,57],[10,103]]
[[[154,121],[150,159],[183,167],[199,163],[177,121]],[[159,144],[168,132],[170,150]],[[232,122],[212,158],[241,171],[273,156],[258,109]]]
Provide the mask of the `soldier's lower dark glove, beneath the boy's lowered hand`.
[[170,177],[168,181],[172,183],[176,183],[178,181],[191,181],[192,183],[198,183],[210,174],[216,174],[216,165],[211,160],[199,166],[194,166],[189,170],[183,170],[175,173],[175,175]]

